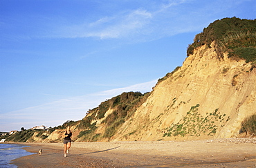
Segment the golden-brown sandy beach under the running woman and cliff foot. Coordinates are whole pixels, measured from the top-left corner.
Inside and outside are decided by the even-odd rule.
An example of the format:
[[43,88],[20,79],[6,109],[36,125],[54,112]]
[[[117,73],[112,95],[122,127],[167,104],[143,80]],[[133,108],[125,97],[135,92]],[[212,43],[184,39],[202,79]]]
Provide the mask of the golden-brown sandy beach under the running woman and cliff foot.
[[13,160],[18,167],[256,167],[255,138],[73,142],[66,158],[62,143],[25,144],[35,154]]

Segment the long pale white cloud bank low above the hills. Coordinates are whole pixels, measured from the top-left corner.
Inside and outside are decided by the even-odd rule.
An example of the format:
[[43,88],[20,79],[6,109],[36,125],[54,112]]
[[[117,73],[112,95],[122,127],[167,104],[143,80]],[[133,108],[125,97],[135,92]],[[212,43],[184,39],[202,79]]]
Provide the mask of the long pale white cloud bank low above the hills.
[[[156,80],[153,80],[151,82],[135,84],[124,88],[69,97],[48,104],[31,106],[26,109],[3,113],[0,114],[0,131],[10,131],[21,127],[29,129],[42,124],[47,127],[55,127],[63,124],[66,120],[82,120],[86,111],[98,106],[100,102],[103,102],[104,100],[110,99],[123,92],[140,91],[145,93],[151,91],[155,84]],[[22,122],[20,122],[21,120]]]

